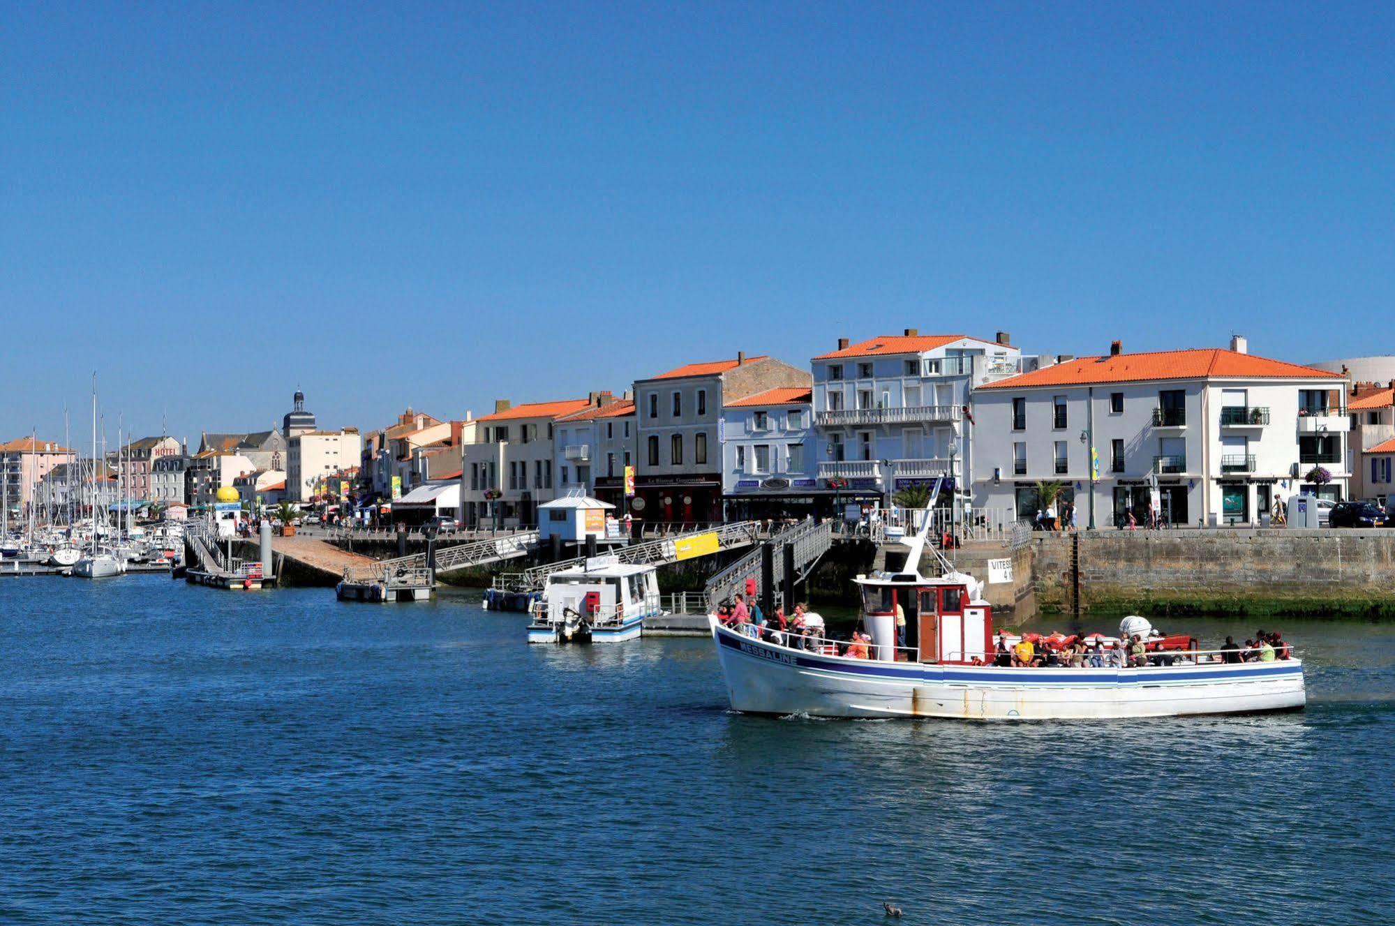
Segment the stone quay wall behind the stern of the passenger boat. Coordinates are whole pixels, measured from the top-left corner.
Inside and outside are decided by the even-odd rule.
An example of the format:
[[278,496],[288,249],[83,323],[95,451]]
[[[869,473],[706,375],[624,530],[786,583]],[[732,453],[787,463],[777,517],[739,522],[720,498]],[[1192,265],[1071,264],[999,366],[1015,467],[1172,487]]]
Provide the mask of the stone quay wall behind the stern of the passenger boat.
[[[1084,531],[1083,611],[1395,619],[1395,530]],[[1073,611],[1069,534],[1032,538],[1042,612]]]

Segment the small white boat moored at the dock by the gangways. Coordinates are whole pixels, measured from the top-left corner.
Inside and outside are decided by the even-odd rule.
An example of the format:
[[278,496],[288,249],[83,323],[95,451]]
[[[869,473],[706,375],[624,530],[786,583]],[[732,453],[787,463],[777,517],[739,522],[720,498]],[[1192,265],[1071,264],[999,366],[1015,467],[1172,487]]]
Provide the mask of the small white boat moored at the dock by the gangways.
[[593,556],[548,576],[531,614],[529,643],[619,643],[638,637],[644,618],[664,612],[654,566]]

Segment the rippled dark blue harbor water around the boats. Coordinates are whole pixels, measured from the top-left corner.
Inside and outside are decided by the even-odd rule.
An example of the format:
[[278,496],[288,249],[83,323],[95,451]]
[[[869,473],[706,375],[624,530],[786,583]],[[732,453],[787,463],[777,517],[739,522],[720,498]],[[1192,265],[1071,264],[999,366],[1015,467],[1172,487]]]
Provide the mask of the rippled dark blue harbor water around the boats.
[[1299,714],[1020,725],[741,717],[707,640],[523,626],[0,580],[0,922],[1388,919],[1395,626],[1269,628]]

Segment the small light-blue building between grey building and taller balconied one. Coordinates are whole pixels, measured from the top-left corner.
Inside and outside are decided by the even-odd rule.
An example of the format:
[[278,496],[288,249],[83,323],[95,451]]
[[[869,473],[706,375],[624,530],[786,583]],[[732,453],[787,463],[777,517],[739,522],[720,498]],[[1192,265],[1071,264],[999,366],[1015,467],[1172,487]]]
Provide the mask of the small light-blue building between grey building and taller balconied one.
[[721,409],[721,494],[727,520],[827,513],[819,487],[813,390],[777,386]]

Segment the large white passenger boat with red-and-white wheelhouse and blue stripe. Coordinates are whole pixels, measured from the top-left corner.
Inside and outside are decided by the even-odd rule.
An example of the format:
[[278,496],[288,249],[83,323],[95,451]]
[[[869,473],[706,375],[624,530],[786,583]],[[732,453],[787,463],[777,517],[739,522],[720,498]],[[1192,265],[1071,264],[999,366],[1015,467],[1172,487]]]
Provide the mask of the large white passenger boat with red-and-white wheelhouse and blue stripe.
[[[1149,665],[1143,667],[992,665],[996,642],[1016,637],[995,635],[982,583],[953,572],[933,548],[946,575],[919,575],[929,522],[907,541],[903,572],[855,580],[866,635],[848,650],[809,633],[753,636],[751,625],[734,629],[709,615],[732,708],[812,717],[1066,720],[1244,714],[1304,704],[1300,660],[1230,662],[1225,658],[1233,653],[1201,651],[1194,640],[1168,648],[1154,639]],[[897,646],[897,608],[905,616],[904,646]],[[1122,635],[1134,632],[1130,621],[1138,618],[1126,618]]]

